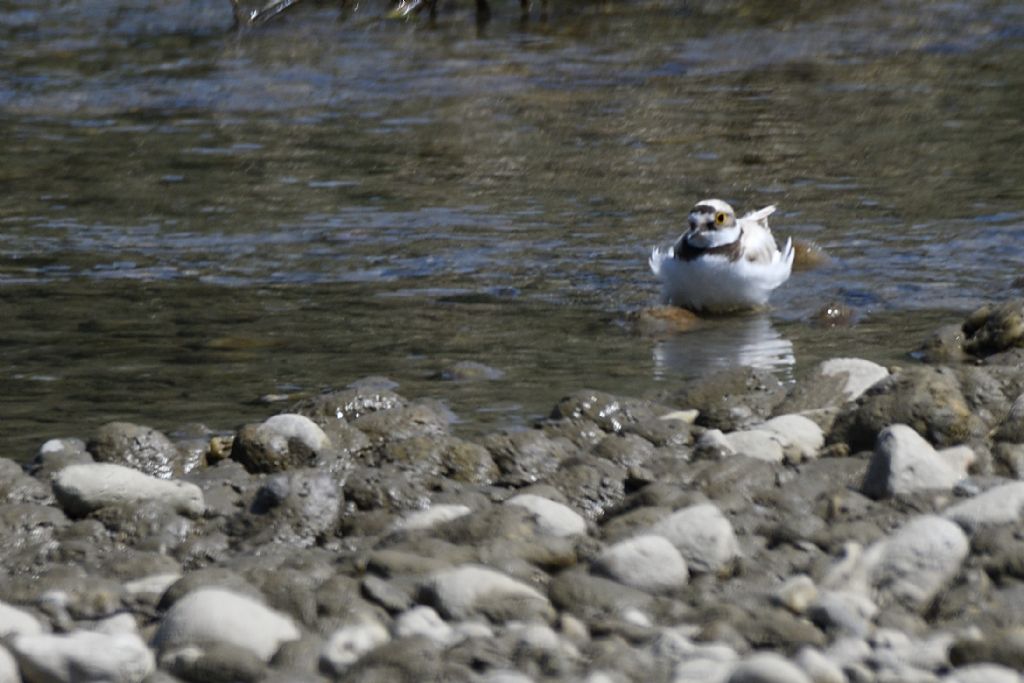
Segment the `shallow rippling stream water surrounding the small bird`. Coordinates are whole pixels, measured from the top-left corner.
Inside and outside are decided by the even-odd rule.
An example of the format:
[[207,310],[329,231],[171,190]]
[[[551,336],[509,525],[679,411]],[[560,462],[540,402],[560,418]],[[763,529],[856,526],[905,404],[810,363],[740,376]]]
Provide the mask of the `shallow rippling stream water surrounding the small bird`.
[[[369,374],[521,425],[582,386],[908,361],[1015,293],[1019,3],[471,4],[237,34],[226,0],[0,3],[3,455]],[[770,313],[633,334],[650,247],[708,196],[833,261]],[[815,326],[828,302],[856,324]],[[505,378],[430,379],[460,359]]]

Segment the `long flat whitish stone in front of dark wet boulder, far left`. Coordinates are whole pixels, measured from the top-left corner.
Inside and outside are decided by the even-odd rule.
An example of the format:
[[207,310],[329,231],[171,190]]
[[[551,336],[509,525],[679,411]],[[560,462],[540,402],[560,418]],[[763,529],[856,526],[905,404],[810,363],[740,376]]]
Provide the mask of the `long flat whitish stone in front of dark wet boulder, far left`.
[[110,505],[157,502],[177,512],[203,514],[203,492],[194,483],[168,481],[111,463],[70,465],[53,478],[53,494],[72,516],[88,514]]

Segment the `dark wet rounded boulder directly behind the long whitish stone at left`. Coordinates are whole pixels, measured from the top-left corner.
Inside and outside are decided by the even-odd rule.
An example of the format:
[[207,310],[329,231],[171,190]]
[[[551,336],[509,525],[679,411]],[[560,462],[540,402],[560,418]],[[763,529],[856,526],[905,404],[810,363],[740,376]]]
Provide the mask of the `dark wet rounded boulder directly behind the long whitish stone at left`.
[[186,464],[183,454],[162,432],[129,422],[103,425],[86,447],[96,462],[124,465],[161,479],[180,476],[197,464]]

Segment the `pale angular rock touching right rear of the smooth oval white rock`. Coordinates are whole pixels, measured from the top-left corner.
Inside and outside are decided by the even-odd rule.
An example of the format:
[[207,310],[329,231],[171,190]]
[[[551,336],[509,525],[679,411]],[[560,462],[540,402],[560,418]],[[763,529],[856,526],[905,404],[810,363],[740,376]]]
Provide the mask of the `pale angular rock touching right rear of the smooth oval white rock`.
[[731,567],[739,556],[732,524],[711,503],[678,510],[656,522],[648,532],[668,539],[691,571],[717,573]]

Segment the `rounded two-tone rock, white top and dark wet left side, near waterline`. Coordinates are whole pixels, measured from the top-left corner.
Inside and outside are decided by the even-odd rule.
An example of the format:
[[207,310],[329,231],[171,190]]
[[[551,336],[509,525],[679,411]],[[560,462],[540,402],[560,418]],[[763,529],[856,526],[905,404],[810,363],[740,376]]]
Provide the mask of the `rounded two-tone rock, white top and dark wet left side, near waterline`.
[[284,414],[242,427],[231,444],[231,459],[249,472],[283,472],[311,465],[332,451],[331,439],[312,420]]

